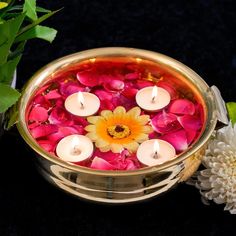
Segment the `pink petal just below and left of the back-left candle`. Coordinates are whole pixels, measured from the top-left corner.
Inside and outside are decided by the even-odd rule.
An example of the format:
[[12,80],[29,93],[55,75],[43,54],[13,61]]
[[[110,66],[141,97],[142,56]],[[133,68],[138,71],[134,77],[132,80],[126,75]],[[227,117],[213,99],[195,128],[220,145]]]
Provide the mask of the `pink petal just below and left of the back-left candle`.
[[71,115],[62,107],[54,107],[48,120],[50,124],[63,124],[67,126],[74,124]]

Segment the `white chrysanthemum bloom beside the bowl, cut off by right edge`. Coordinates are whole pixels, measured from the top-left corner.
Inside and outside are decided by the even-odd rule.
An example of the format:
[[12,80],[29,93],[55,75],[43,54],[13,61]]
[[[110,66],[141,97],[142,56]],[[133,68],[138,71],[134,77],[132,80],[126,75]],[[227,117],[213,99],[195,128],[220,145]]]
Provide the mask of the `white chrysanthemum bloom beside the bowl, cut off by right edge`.
[[198,172],[197,187],[208,200],[236,214],[236,125],[215,132],[203,158],[205,170]]

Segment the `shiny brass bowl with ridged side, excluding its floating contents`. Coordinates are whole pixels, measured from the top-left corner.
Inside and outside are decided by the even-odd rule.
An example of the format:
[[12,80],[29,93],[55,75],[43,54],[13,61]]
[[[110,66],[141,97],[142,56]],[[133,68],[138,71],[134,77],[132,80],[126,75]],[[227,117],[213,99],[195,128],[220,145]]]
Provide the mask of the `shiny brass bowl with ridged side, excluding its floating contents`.
[[[147,59],[178,74],[191,86],[205,105],[206,121],[201,137],[176,159],[158,166],[135,171],[100,171],[71,165],[44,151],[32,138],[26,125],[26,109],[35,91],[47,82],[49,75],[80,61],[96,57],[132,57]],[[42,175],[51,183],[78,197],[105,203],[128,203],[155,197],[179,182],[185,181],[201,163],[220,112],[219,95],[193,70],[165,55],[133,48],[99,48],[60,58],[39,70],[29,80],[19,101],[18,130],[35,151]]]

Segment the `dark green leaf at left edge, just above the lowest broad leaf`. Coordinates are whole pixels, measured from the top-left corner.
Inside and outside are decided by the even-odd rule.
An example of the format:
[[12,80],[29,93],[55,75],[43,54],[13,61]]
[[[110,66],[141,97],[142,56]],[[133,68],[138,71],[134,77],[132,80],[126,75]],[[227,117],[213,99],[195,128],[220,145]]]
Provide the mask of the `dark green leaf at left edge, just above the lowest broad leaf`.
[[21,59],[21,55],[14,58],[13,60],[8,61],[7,63],[0,65],[0,81],[3,84],[10,85],[16,66]]

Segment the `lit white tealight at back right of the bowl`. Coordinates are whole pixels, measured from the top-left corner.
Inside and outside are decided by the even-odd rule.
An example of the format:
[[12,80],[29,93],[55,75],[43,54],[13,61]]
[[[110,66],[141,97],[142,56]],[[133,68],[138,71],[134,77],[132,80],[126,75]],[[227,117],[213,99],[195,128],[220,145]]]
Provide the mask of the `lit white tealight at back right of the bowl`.
[[146,111],[158,111],[170,103],[170,94],[163,88],[149,86],[137,92],[136,102]]

